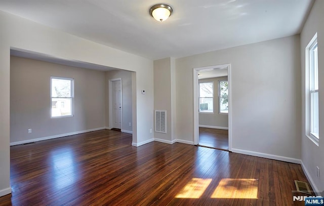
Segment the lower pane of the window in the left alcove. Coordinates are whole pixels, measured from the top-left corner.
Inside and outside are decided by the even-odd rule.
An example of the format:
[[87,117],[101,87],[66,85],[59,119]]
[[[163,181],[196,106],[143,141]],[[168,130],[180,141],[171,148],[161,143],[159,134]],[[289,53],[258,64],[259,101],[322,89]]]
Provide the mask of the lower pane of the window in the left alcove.
[[71,98],[52,98],[52,116],[70,116],[72,115]]

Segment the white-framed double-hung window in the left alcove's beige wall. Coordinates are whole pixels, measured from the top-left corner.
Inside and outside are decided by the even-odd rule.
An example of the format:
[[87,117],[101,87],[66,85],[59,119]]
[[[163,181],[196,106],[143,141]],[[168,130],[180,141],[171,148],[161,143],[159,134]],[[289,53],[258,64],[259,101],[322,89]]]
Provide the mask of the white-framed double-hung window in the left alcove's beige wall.
[[73,79],[51,77],[52,117],[73,116]]

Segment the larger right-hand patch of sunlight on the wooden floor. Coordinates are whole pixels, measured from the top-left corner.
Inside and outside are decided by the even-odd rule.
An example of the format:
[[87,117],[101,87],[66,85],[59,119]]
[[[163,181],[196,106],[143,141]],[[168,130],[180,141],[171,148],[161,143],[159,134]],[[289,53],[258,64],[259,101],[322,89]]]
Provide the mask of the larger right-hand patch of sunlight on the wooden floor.
[[258,179],[222,179],[212,198],[258,198]]

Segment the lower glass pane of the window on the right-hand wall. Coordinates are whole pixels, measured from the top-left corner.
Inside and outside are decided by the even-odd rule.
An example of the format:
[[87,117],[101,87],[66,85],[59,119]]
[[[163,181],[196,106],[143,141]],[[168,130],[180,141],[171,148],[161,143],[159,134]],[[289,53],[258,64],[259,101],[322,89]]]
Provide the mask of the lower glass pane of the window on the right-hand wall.
[[310,94],[310,132],[318,138],[318,92]]

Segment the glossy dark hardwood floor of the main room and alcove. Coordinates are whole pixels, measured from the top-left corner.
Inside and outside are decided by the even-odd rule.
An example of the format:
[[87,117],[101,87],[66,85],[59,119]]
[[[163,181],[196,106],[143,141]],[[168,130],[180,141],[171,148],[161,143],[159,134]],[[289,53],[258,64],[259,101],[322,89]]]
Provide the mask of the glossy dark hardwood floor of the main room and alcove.
[[[304,205],[301,166],[110,130],[11,147],[0,205]],[[303,195],[301,193],[294,193]]]

